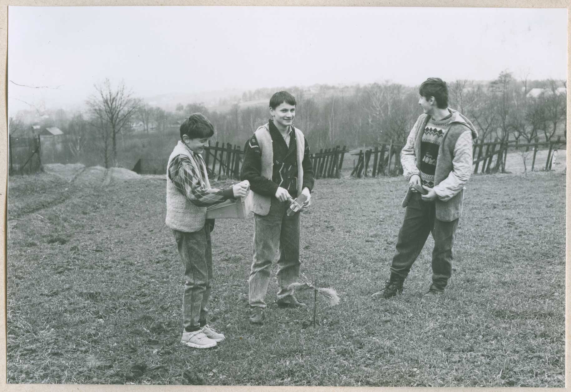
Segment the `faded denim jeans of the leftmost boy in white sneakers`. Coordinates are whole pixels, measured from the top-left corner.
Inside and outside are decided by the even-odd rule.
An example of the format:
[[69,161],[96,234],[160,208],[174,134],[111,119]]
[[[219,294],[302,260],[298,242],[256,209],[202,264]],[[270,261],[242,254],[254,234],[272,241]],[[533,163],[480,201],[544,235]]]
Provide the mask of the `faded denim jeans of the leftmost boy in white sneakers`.
[[183,326],[190,332],[205,325],[208,314],[208,298],[212,288],[210,228],[205,225],[198,232],[173,232],[186,278],[182,297]]

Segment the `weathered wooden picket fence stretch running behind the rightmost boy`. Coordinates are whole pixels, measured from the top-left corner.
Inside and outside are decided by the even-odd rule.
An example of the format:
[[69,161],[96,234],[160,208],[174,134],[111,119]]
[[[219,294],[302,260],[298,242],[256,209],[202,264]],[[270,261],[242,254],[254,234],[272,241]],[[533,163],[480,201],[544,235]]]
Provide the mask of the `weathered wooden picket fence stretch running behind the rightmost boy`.
[[[525,151],[533,149],[531,170],[533,171],[536,163],[537,151],[540,147],[548,148],[547,159],[545,161],[545,170],[551,170],[553,162],[553,151],[561,146],[564,146],[565,140],[561,140],[561,136],[557,140],[550,140],[549,142],[540,142],[539,138],[535,138],[534,143],[519,143],[518,141],[502,142],[498,138],[494,142],[475,143],[472,148],[472,164],[474,165],[474,173],[496,173],[501,171],[505,172],[505,161],[508,156],[508,149]],[[381,144],[375,149],[362,149],[359,153],[353,155],[359,156],[357,164],[351,172],[352,176],[356,177],[369,177],[369,165],[371,164],[371,157],[373,158],[372,177],[380,175],[393,175],[402,173],[400,164],[400,151],[404,146],[400,144]],[[390,153],[388,153],[390,151]],[[393,159],[394,156],[394,159]],[[495,159],[494,159],[495,158]]]

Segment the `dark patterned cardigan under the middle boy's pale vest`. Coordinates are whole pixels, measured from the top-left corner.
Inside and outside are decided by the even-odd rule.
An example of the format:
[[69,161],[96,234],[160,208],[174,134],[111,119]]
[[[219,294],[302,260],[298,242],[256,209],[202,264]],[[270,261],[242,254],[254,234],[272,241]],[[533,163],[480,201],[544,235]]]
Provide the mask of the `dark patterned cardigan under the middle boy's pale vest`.
[[[286,144],[282,134],[273,120],[268,122],[270,136],[272,138],[272,149],[274,151],[274,167],[272,169],[272,179],[262,176],[262,151],[256,136],[253,135],[246,146],[244,146],[244,163],[240,177],[250,181],[250,188],[253,192],[263,196],[274,197],[278,187],[287,189],[292,197],[297,195],[297,159],[296,159],[296,135],[295,132],[289,134],[289,146]],[[313,189],[315,179],[313,178],[313,165],[309,158],[309,144],[304,138],[304,153],[301,163],[303,168],[302,189],[307,187],[309,191]]]

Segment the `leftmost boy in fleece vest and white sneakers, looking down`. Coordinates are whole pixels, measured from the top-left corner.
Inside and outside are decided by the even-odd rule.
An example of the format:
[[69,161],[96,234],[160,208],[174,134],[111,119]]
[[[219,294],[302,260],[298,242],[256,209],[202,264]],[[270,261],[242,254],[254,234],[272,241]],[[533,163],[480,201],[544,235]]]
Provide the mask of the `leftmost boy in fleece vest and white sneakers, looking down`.
[[208,297],[212,287],[213,220],[206,220],[206,207],[247,195],[242,181],[228,189],[210,188],[206,164],[200,153],[214,135],[214,127],[200,113],[180,126],[180,140],[168,158],[166,224],[174,232],[184,265],[182,301],[184,330],[181,343],[206,349],[224,340],[224,335],[206,324]]

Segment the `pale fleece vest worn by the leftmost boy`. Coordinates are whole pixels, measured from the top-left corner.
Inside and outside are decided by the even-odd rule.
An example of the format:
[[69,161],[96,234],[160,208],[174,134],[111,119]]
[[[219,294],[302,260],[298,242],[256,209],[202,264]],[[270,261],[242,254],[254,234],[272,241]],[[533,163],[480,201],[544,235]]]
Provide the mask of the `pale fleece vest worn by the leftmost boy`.
[[[172,159],[177,155],[184,155],[190,159],[197,173],[200,173],[201,167],[199,159],[194,153],[188,150],[184,143],[180,140],[176,147],[172,150],[171,156],[168,157],[167,164],[167,217],[165,223],[167,227],[181,232],[192,233],[199,231],[204,227],[206,222],[206,207],[198,207],[191,203],[190,200],[183,195],[174,182],[168,177],[168,167],[170,167]],[[200,178],[200,185],[210,188],[208,181],[208,173],[206,167],[202,167],[203,178]]]

